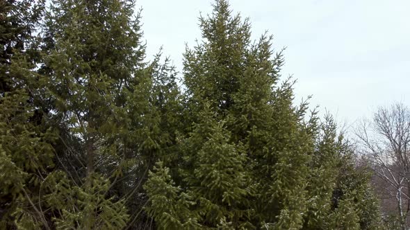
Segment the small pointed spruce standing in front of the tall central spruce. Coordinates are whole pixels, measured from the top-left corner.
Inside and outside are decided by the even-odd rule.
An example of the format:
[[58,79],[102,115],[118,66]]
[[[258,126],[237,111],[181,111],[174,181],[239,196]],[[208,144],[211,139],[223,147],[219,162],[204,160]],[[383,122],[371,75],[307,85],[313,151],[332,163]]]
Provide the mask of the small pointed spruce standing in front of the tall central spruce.
[[247,157],[241,143],[229,143],[229,132],[223,121],[205,107],[200,123],[186,140],[183,180],[198,202],[199,212],[206,213],[203,222],[218,226],[222,221],[233,229],[249,229],[252,209],[249,207],[252,187],[245,171]]

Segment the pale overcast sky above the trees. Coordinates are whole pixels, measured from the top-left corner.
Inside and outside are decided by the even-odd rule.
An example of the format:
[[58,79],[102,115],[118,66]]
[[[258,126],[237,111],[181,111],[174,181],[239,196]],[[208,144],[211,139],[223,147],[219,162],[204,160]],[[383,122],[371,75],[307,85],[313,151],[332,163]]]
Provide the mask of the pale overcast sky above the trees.
[[[208,0],[139,0],[147,53],[163,46],[178,71],[185,44],[200,39],[199,13]],[[380,105],[410,106],[410,1],[408,0],[231,0],[233,12],[249,17],[252,36],[265,30],[274,47],[286,46],[282,78],[293,75],[296,102],[352,124]]]

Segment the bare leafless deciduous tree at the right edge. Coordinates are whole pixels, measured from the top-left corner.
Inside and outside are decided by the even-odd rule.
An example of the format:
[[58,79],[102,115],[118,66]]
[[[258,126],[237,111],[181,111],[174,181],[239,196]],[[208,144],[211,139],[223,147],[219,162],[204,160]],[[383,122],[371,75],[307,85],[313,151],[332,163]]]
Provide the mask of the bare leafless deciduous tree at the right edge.
[[401,103],[379,107],[371,121],[356,130],[361,152],[375,175],[384,181],[384,193],[395,200],[395,212],[402,229],[410,214],[410,109]]

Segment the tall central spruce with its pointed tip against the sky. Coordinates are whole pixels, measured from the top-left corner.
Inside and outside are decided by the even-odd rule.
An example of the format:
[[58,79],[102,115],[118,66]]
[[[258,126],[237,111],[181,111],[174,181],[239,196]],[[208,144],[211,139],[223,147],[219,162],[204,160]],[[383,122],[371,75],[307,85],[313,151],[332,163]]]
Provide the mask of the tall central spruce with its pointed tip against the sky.
[[[181,150],[183,170],[171,170],[175,182],[196,197],[192,211],[207,204],[200,213],[204,227],[300,227],[313,141],[302,123],[304,108],[293,106],[291,82],[279,85],[281,53],[273,55],[272,37],[252,43],[248,20],[231,16],[227,1],[216,1],[200,22],[202,43],[187,48],[184,59],[186,114],[194,125]],[[204,116],[208,110],[212,116]],[[236,169],[230,177],[215,157]],[[217,196],[227,191],[212,186],[215,180],[236,188],[229,192],[235,204]]]

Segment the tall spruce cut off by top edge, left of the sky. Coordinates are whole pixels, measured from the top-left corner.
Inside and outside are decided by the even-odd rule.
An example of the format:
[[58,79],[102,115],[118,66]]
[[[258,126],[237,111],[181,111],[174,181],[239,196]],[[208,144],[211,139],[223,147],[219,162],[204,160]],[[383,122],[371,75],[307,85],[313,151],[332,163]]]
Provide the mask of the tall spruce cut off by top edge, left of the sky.
[[115,139],[126,127],[126,93],[143,82],[144,46],[132,14],[128,1],[54,1],[46,18],[41,71],[49,80],[50,115],[79,141],[85,176],[96,172],[99,157],[122,148]]

